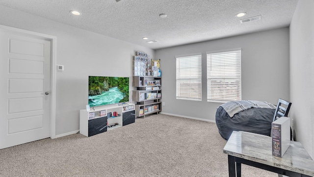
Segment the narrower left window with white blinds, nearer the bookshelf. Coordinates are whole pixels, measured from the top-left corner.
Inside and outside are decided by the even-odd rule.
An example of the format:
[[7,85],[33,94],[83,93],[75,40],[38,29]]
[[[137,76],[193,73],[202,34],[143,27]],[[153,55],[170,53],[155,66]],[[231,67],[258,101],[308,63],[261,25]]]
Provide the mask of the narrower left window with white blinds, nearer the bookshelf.
[[202,101],[202,53],[176,56],[177,99]]

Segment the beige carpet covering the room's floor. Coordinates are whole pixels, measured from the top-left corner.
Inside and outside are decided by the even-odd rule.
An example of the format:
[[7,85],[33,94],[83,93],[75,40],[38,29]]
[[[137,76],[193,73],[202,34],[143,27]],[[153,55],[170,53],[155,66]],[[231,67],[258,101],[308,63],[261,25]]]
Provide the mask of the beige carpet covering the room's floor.
[[[0,177],[228,177],[225,144],[214,123],[158,114],[0,150]],[[278,176],[242,165],[242,177]]]

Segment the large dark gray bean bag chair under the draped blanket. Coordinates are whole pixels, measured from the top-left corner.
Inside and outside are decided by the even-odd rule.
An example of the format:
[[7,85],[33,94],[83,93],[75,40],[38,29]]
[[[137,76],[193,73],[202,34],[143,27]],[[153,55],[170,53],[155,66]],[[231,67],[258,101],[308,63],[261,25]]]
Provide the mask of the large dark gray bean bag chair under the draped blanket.
[[[216,111],[216,125],[218,127],[219,134],[229,139],[233,131],[247,131],[262,135],[270,136],[271,123],[274,118],[276,105],[272,105],[267,102],[262,102],[263,106],[259,106],[261,101],[232,101],[228,102],[228,105],[232,108],[237,107],[235,112],[229,113],[226,111],[224,104],[220,105]],[[225,103],[226,104],[226,103]],[[252,105],[249,105],[252,104]],[[266,105],[265,104],[269,104]],[[261,104],[260,104],[261,105]]]

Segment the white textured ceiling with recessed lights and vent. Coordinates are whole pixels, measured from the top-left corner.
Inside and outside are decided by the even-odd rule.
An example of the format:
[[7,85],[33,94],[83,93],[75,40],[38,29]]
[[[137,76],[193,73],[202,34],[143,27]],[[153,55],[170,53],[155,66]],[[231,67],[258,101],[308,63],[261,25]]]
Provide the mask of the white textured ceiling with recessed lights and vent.
[[[298,0],[0,0],[0,5],[151,49],[285,27]],[[80,16],[70,14],[81,12]],[[235,14],[246,12],[242,18]],[[159,14],[167,14],[160,18]],[[239,20],[262,19],[240,24]],[[142,37],[148,37],[143,40]],[[157,40],[156,43],[146,41]]]

